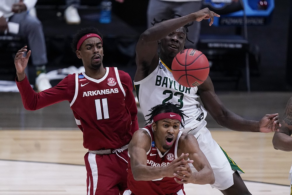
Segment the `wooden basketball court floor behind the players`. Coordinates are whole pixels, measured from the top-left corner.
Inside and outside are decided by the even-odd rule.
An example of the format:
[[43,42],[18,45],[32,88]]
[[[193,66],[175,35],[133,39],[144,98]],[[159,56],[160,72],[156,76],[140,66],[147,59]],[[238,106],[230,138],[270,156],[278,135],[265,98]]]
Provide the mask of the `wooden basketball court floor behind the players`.
[[[230,110],[241,116],[249,111],[258,120],[258,115],[277,110],[283,112],[291,94],[254,93],[241,96],[242,93],[225,93],[220,98]],[[249,99],[251,96],[252,100]],[[1,94],[0,99],[6,102],[1,104],[0,119],[0,194],[85,194],[83,156],[87,150],[82,146],[82,133],[76,128],[68,103],[32,112],[23,110],[17,93]],[[239,107],[233,106],[234,101]],[[251,110],[246,110],[246,107]],[[68,119],[63,113],[67,113]],[[210,121],[208,128],[213,138],[246,172],[241,177],[253,195],[289,194],[291,153],[273,148],[273,133],[230,131],[216,127],[211,119],[207,121]],[[143,122],[139,124],[143,126]],[[63,128],[64,123],[69,127]],[[39,127],[40,124],[43,127]],[[186,184],[185,191],[189,195],[221,194],[210,185]]]

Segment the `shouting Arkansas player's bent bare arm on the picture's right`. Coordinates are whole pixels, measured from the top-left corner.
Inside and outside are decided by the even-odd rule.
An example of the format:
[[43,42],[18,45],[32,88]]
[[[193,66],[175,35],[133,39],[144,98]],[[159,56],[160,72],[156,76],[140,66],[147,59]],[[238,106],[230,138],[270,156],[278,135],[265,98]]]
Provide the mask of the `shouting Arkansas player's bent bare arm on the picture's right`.
[[215,177],[211,165],[206,156],[200,150],[197,139],[191,134],[183,133],[178,141],[178,155],[180,153],[189,153],[190,160],[193,160],[192,165],[197,172],[192,172],[189,165],[185,167],[187,170],[179,171],[175,174],[175,181],[179,184],[213,184]]

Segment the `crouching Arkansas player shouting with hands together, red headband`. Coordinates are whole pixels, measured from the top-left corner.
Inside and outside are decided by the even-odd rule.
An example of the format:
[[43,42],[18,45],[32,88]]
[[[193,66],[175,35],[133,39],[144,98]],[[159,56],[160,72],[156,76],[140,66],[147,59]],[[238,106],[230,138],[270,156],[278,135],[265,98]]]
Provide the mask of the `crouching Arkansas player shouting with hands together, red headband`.
[[129,190],[124,195],[183,195],[183,184],[215,182],[196,138],[180,131],[184,114],[177,106],[153,107],[149,114],[153,123],[134,133],[128,150]]

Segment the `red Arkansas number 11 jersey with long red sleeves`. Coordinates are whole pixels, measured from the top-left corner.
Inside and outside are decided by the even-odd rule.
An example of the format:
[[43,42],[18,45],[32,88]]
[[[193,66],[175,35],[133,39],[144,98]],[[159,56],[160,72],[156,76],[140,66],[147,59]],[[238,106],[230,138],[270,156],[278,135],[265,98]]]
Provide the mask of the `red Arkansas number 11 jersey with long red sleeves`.
[[93,79],[70,74],[58,85],[34,92],[27,78],[17,82],[27,110],[37,110],[64,100],[70,102],[76,123],[83,132],[83,146],[89,150],[121,148],[138,130],[137,106],[131,77],[114,67]]

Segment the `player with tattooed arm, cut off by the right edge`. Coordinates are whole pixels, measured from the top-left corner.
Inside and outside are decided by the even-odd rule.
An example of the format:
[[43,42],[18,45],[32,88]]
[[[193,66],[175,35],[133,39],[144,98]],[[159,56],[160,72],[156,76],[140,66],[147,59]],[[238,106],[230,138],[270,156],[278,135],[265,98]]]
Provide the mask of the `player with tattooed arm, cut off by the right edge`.
[[[275,132],[273,146],[276,150],[292,151],[292,97],[288,100],[284,114],[279,119],[279,132]],[[289,174],[291,180],[290,194],[292,194],[292,167]]]

